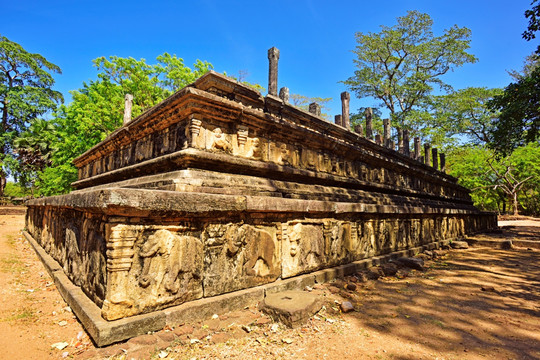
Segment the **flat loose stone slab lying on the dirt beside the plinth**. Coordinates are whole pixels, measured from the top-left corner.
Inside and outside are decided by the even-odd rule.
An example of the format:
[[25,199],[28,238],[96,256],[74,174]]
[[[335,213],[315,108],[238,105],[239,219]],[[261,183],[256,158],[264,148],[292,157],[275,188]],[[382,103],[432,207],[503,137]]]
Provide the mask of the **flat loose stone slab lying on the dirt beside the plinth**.
[[305,291],[283,291],[268,294],[260,305],[261,311],[275,321],[295,328],[321,310],[323,299]]

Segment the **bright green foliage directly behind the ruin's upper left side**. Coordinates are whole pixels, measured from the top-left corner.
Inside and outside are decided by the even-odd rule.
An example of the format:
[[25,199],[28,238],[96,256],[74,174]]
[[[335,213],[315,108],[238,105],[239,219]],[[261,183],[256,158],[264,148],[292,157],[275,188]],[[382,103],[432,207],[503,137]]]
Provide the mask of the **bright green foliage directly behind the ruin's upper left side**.
[[51,166],[39,174],[43,195],[71,190],[70,184],[77,179],[73,159],[122,125],[125,94],[133,95],[132,115],[136,117],[212,68],[197,60],[191,69],[183,59],[167,53],[158,56],[156,64],[113,56],[94,60],[94,66],[98,79],[72,91],[73,101],[61,106],[50,121],[54,131],[47,135],[48,141],[56,145]]

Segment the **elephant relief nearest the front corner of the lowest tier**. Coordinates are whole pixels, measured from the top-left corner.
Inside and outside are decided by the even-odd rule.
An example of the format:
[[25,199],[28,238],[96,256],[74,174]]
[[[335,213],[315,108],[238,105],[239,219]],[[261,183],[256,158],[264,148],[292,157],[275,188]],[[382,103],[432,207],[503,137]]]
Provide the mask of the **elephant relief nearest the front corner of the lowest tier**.
[[142,245],[143,258],[139,285],[163,283],[165,289],[177,294],[188,288],[192,278],[201,277],[202,242],[193,236],[177,235],[169,230],[157,230]]

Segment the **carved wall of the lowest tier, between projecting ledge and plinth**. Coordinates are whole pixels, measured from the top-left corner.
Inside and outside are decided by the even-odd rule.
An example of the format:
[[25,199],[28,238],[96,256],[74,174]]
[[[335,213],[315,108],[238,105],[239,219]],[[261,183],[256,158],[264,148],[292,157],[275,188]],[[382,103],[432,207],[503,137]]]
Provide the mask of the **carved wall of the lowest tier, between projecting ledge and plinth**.
[[108,320],[496,226],[489,214],[227,211],[140,221],[48,207],[30,208],[27,219],[34,239]]

